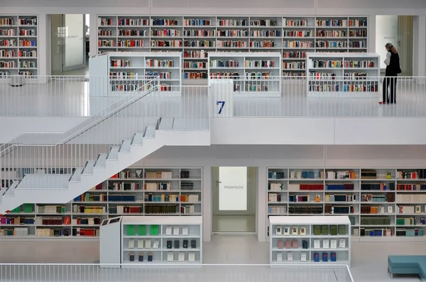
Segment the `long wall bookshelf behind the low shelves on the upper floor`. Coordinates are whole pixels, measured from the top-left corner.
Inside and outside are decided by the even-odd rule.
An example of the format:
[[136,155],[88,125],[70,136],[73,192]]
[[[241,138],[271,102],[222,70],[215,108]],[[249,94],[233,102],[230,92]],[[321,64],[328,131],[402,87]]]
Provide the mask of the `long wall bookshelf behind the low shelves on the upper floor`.
[[207,81],[209,52],[280,52],[305,77],[306,52],[367,52],[366,16],[98,16],[99,53],[182,52],[183,81]]

